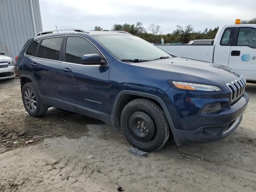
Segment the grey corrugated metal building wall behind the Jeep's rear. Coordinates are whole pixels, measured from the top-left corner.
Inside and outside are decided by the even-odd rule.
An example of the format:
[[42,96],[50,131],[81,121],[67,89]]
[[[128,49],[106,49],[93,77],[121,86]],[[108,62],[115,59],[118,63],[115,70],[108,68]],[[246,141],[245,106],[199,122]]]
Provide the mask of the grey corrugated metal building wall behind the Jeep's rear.
[[39,0],[0,0],[0,51],[6,56],[15,59],[28,38],[40,31]]

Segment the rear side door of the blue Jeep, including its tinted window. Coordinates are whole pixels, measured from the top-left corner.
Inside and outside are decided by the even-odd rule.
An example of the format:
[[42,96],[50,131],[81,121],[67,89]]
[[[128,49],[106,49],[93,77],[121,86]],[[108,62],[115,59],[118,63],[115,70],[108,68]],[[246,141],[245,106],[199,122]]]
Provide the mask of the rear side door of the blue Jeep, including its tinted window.
[[[60,50],[64,37],[41,40],[35,57],[28,61],[28,68],[36,80],[43,102],[61,108],[64,105],[60,86]],[[29,48],[28,48],[29,49]]]

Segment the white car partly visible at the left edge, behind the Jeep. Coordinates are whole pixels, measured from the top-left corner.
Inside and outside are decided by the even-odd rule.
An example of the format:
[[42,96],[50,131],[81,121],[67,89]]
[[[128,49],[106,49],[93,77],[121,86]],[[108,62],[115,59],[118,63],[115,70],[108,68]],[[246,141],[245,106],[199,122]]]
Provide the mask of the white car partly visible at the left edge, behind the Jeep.
[[14,77],[14,60],[8,56],[4,56],[4,52],[0,52],[0,80],[13,79]]

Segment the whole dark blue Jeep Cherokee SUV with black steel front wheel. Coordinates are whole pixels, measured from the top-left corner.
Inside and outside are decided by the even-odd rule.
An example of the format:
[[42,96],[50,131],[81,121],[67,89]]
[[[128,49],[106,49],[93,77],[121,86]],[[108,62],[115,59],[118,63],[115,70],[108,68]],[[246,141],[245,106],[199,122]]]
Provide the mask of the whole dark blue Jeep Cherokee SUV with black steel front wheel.
[[18,56],[22,100],[31,116],[49,107],[121,126],[155,151],[232,133],[248,103],[246,80],[221,65],[172,56],[121,31],[40,32]]

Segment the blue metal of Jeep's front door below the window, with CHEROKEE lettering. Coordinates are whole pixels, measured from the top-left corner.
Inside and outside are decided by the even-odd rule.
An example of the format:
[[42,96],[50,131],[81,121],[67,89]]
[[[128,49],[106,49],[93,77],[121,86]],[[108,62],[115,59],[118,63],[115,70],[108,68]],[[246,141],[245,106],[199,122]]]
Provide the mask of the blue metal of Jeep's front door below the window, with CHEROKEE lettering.
[[[64,101],[109,114],[108,66],[79,66],[61,63]],[[69,106],[72,107],[72,106]],[[74,108],[72,108],[72,111]]]

